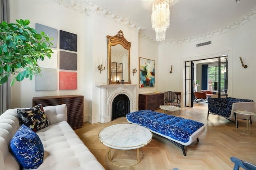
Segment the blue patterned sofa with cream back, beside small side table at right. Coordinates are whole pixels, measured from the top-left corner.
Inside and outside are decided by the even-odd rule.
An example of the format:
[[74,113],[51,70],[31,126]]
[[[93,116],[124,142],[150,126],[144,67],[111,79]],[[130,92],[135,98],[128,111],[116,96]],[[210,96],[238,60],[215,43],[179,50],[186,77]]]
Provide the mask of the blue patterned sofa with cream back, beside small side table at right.
[[[230,121],[233,121],[236,117],[234,110],[247,110],[252,111],[255,102],[248,99],[237,99],[237,98],[208,98],[208,115],[209,113],[216,114]],[[242,115],[239,115],[242,116]],[[242,117],[239,117],[240,119]]]

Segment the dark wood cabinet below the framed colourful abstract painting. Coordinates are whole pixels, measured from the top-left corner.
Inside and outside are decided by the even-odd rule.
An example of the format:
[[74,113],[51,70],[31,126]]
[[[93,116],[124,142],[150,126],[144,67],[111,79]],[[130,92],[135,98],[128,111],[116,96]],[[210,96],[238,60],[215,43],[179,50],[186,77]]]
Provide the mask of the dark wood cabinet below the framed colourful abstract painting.
[[164,93],[139,94],[139,110],[156,110],[164,104]]

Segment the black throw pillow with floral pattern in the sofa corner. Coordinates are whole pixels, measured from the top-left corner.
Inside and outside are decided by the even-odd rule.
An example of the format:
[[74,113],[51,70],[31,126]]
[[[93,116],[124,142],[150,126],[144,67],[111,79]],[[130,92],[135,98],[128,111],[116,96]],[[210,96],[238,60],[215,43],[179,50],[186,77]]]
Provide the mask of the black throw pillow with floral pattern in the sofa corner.
[[17,113],[22,123],[34,132],[49,126],[49,120],[44,113],[42,104],[29,109],[17,109]]

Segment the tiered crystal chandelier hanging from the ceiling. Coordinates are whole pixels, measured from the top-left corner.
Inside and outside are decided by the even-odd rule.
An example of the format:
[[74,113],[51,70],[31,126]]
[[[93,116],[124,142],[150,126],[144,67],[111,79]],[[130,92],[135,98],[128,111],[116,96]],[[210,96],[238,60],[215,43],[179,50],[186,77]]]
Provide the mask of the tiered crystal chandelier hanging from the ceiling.
[[[174,2],[174,0],[171,0]],[[155,0],[152,5],[151,22],[156,31],[156,41],[165,39],[165,31],[170,25],[169,0]]]

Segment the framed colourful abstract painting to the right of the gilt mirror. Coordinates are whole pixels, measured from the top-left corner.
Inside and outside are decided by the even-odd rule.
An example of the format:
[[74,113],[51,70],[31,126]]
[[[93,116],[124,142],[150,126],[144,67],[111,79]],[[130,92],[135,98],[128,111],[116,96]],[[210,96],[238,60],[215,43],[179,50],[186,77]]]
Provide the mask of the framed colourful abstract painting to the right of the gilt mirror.
[[155,86],[155,61],[140,57],[140,87]]

